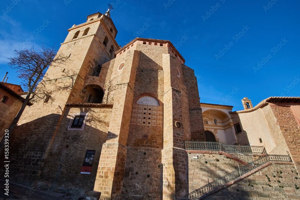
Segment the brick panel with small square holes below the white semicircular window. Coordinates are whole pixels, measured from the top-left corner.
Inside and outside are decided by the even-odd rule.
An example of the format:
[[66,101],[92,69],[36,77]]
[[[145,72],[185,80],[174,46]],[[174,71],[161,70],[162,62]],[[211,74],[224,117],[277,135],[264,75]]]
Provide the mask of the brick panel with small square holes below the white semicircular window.
[[163,106],[133,104],[131,124],[163,126]]

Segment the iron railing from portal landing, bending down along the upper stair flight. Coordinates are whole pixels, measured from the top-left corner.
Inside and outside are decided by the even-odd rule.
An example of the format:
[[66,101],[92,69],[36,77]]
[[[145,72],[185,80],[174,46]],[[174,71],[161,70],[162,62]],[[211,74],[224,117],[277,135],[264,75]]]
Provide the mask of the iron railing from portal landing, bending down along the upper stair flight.
[[234,145],[226,145],[222,142],[195,142],[195,141],[186,141],[185,142],[186,150],[207,150],[207,151],[223,151],[231,154],[232,156],[242,160],[246,163],[252,162],[252,157],[246,153],[239,151],[238,148],[235,148]]

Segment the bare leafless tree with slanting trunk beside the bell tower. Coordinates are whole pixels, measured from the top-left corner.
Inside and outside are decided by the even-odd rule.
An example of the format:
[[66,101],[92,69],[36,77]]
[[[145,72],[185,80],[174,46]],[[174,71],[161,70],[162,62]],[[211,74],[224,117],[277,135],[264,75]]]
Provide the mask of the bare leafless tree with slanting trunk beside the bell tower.
[[[65,65],[69,61],[67,56],[57,54],[55,46],[46,48],[42,45],[39,50],[35,50],[32,47],[31,49],[15,50],[14,52],[16,56],[8,58],[10,60],[8,66],[17,70],[19,78],[22,80],[22,85],[28,89],[28,94],[8,129],[10,134],[18,123],[28,102],[37,103],[45,98],[53,100],[51,91],[46,88],[46,85],[50,84],[50,81],[45,76],[49,66],[58,67],[61,64]],[[4,137],[0,142],[0,152],[3,150],[3,147]]]

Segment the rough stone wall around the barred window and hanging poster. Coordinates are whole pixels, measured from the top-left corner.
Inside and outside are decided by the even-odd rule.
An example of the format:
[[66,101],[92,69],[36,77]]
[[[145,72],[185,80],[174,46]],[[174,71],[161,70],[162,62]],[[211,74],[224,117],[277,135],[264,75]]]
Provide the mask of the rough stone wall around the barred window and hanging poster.
[[[84,196],[92,191],[101,148],[107,138],[112,107],[67,107],[39,185],[44,190]],[[83,130],[67,130],[73,113],[88,113]],[[86,150],[95,150],[91,174],[81,174]]]

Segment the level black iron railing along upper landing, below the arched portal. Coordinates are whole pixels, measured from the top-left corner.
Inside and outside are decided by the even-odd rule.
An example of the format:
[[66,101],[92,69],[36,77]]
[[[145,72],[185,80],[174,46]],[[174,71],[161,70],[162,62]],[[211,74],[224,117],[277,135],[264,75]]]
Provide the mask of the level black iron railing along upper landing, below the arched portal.
[[[186,141],[185,149],[186,150],[222,151],[220,149],[220,144],[223,144],[223,143]],[[241,151],[244,154],[267,154],[264,146],[246,146],[246,145],[227,145],[227,146],[234,148],[238,151]]]

